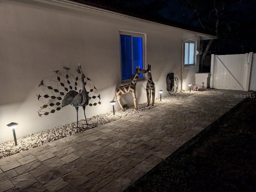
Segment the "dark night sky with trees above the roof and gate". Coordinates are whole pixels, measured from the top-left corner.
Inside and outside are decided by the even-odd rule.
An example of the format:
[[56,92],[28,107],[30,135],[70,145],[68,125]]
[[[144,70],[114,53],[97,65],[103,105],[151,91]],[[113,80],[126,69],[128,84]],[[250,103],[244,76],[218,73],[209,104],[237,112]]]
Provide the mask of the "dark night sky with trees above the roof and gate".
[[256,27],[254,27],[256,24],[256,0],[73,1],[174,27],[216,35],[218,39],[212,43],[211,53],[256,52]]

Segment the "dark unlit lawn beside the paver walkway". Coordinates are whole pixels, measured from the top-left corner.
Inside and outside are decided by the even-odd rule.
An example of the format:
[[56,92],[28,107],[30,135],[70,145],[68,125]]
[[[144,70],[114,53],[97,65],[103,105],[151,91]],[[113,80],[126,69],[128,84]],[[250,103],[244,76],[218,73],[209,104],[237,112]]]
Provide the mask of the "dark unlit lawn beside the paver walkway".
[[233,108],[192,145],[171,155],[126,191],[255,192],[256,98]]

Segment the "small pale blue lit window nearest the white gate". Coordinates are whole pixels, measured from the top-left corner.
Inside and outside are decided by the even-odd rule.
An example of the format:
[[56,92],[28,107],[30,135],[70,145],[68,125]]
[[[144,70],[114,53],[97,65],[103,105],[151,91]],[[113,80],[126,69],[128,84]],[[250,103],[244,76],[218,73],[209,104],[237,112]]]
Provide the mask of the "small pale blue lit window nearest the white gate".
[[194,42],[185,42],[184,49],[184,64],[185,66],[194,66],[195,65],[195,43]]

